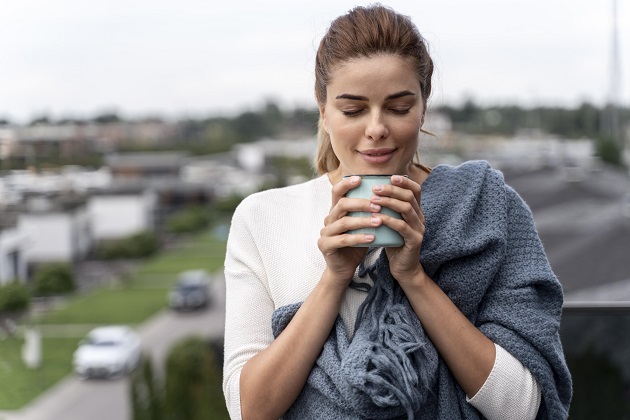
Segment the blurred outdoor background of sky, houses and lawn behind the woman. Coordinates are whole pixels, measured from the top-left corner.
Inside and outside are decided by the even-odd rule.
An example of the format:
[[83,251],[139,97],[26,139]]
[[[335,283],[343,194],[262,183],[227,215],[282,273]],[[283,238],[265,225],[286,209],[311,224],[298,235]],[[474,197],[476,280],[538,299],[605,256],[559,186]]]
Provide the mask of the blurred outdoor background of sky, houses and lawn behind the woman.
[[[0,419],[227,418],[231,213],[313,177],[315,51],[358,4],[0,0]],[[384,4],[436,66],[424,162],[487,159],[532,209],[565,291],[571,418],[627,418],[630,7]],[[191,270],[209,298],[182,310]],[[117,324],[142,360],[74,375],[79,341]]]

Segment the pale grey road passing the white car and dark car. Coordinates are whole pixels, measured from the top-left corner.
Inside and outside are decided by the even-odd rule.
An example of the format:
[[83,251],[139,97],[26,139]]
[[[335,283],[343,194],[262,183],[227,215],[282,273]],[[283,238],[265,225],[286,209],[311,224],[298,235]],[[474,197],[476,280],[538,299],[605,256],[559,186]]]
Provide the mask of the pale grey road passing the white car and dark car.
[[[163,366],[170,347],[184,337],[218,338],[225,320],[225,283],[212,282],[214,304],[192,313],[163,311],[138,327],[145,354],[154,366]],[[131,420],[129,380],[81,381],[70,375],[30,405],[15,412],[0,412],[1,420]]]

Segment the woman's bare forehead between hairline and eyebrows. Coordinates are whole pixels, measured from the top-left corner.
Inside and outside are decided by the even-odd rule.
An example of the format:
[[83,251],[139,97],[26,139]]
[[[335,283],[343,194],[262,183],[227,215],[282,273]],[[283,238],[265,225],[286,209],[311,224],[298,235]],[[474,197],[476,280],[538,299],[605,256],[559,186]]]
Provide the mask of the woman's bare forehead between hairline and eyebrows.
[[359,93],[348,91],[356,89],[361,89],[362,94],[400,90],[419,94],[420,82],[409,61],[398,55],[380,54],[352,58],[335,66],[326,90],[329,93]]

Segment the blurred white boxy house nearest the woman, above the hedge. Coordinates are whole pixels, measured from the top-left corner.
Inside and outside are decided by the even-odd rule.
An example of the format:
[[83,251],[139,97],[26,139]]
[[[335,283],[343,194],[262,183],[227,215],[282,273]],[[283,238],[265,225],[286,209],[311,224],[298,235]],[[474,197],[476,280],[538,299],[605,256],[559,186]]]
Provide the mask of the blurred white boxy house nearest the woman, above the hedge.
[[142,186],[118,186],[89,193],[87,209],[95,241],[153,230],[157,194]]

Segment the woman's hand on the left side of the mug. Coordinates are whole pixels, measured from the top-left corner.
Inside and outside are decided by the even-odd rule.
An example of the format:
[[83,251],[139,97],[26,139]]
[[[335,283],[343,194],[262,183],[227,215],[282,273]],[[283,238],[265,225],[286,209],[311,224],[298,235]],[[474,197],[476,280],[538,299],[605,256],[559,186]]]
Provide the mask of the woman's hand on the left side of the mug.
[[324,219],[324,227],[320,232],[317,241],[319,250],[326,260],[329,276],[341,283],[347,284],[352,280],[352,276],[357,266],[361,263],[367,247],[353,247],[358,244],[369,244],[374,241],[374,235],[350,234],[352,229],[366,227],[376,227],[382,223],[380,218],[375,217],[350,217],[351,211],[368,213],[378,213],[380,206],[370,203],[369,200],[361,198],[345,197],[352,188],[359,186],[361,177],[352,176],[342,178],[332,189],[332,207],[330,213]]

